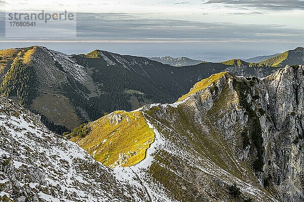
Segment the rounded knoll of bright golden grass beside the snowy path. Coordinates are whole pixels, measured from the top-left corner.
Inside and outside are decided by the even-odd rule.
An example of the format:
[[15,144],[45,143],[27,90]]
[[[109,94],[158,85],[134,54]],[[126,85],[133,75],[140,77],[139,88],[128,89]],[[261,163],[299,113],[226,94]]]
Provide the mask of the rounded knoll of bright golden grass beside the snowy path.
[[108,167],[139,163],[155,138],[153,129],[149,128],[141,112],[116,111],[88,126],[91,131],[86,137],[71,140]]

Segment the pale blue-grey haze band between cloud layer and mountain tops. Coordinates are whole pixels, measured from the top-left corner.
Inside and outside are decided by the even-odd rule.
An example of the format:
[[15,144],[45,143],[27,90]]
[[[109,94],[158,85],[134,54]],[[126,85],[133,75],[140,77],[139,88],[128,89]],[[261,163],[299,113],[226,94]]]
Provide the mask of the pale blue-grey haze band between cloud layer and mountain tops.
[[[288,49],[294,49],[300,44],[273,44],[260,48],[257,44],[203,44],[203,43],[43,43],[43,42],[1,42],[0,49],[12,47],[27,47],[31,45],[42,45],[65,54],[84,54],[93,49],[102,49],[122,55],[133,55],[143,57],[188,57],[208,62],[226,61],[240,58],[248,59],[256,56],[273,55],[283,53]],[[304,44],[302,44],[304,46]]]

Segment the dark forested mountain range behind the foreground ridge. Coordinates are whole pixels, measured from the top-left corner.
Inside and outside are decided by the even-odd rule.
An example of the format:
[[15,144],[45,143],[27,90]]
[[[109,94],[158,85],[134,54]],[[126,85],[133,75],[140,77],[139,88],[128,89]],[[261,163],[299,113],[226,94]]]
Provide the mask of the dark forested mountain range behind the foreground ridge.
[[300,63],[301,50],[288,52],[279,66],[274,58],[274,64],[235,59],[173,67],[100,50],[65,56],[42,46],[5,49],[0,51],[0,91],[40,114],[50,130],[62,134],[112,111],[175,102],[214,73],[265,77],[292,60]]

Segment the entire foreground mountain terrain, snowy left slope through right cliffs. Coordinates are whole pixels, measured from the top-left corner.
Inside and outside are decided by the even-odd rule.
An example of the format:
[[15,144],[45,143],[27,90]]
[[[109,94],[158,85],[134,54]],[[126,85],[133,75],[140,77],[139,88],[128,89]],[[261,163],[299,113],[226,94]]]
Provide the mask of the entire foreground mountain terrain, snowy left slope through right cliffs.
[[0,97],[0,197],[303,201],[303,77],[302,65],[216,73],[175,103],[115,111],[64,137]]

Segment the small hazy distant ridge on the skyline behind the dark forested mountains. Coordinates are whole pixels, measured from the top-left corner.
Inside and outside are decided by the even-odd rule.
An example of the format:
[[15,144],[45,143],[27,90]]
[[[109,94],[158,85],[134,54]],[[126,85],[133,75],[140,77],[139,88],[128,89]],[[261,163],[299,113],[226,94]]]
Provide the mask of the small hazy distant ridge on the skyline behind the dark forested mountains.
[[201,60],[193,60],[193,59],[186,58],[186,57],[172,58],[170,56],[152,57],[152,58],[148,58],[148,59],[166,64],[166,65],[171,65],[171,66],[174,66],[174,67],[198,65],[200,63],[205,62],[205,61],[201,61]]

